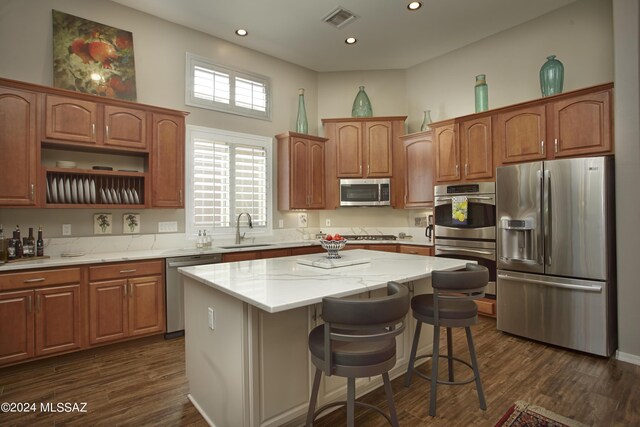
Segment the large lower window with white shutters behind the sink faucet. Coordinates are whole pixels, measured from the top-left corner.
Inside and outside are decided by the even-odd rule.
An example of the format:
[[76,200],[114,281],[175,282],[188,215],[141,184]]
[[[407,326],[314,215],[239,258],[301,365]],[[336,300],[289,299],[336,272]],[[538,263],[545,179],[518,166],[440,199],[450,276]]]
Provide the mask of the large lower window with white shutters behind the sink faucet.
[[251,215],[253,229],[271,231],[269,137],[188,126],[187,233],[235,234],[236,218]]

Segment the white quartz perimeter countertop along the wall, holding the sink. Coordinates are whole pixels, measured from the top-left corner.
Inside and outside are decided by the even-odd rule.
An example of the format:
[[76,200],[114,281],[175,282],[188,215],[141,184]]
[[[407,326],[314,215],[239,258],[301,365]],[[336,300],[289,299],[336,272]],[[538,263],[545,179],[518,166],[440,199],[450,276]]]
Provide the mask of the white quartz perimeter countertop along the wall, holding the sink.
[[[377,240],[377,241],[361,241],[354,240],[353,244],[403,244],[403,245],[418,245],[429,246],[430,243],[420,241],[408,241],[408,240]],[[87,253],[81,256],[63,257],[53,256],[51,258],[37,259],[33,261],[20,261],[14,263],[0,264],[0,273],[6,271],[18,271],[18,270],[30,270],[38,268],[49,267],[67,267],[83,264],[97,264],[103,262],[119,262],[119,261],[136,261],[143,259],[156,259],[156,258],[173,258],[189,255],[201,255],[201,254],[224,254],[229,252],[248,252],[248,251],[262,251],[269,249],[281,249],[281,248],[293,248],[319,245],[319,242],[315,240],[299,240],[291,242],[277,242],[269,244],[261,244],[256,242],[254,244],[245,245],[221,245],[214,246],[207,249],[191,248],[172,248],[172,249],[145,249],[145,250],[126,250],[118,252],[98,252]],[[46,255],[46,250],[45,250]]]

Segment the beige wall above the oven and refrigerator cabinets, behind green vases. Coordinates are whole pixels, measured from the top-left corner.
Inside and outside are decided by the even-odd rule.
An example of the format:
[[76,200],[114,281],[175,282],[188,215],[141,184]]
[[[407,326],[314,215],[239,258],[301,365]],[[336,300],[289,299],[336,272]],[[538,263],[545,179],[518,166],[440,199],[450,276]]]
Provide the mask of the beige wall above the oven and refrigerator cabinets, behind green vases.
[[474,113],[477,74],[486,74],[489,108],[540,98],[540,67],[556,55],[564,91],[613,81],[611,0],[580,0],[407,70],[409,131],[421,112],[433,121]]

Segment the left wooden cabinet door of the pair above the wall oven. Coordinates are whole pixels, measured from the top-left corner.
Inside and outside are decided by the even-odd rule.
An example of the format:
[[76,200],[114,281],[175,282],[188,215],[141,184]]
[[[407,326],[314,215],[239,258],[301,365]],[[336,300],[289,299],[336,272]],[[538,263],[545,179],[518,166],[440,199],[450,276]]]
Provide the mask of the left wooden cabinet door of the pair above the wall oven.
[[460,144],[457,123],[434,128],[435,179],[437,182],[459,181]]

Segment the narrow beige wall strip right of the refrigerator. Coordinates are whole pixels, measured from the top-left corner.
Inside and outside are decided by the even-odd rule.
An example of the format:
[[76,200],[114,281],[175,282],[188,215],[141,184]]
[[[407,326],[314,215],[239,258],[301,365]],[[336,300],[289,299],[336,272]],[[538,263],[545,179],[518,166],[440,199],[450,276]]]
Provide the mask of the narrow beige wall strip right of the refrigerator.
[[640,365],[640,7],[614,0],[618,343],[620,358]]

